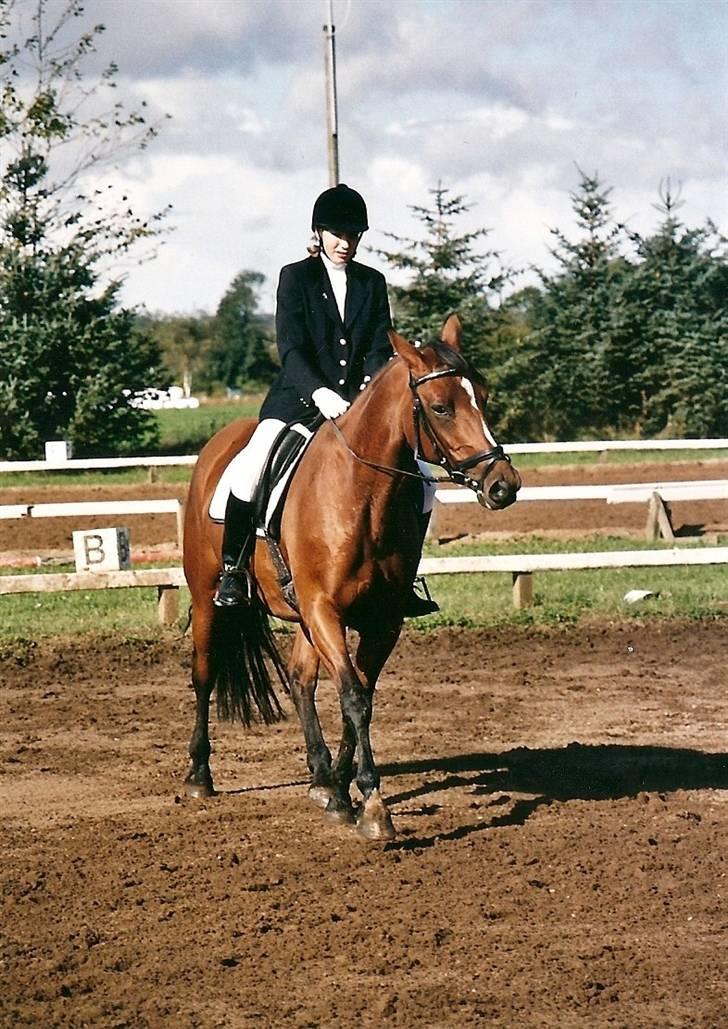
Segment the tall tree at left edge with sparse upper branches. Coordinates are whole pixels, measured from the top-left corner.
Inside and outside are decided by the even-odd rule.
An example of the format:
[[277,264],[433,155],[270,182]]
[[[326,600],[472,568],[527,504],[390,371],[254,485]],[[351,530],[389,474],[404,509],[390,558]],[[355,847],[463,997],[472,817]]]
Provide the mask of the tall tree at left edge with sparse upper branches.
[[159,216],[137,218],[126,197],[114,207],[98,173],[155,129],[118,103],[102,108],[113,65],[83,81],[103,27],[73,38],[80,3],[50,24],[48,7],[37,0],[23,36],[15,5],[0,0],[0,450],[37,457],[61,436],[78,455],[130,453],[155,437],[153,416],[130,399],[153,381],[158,354],[100,269],[153,237]]

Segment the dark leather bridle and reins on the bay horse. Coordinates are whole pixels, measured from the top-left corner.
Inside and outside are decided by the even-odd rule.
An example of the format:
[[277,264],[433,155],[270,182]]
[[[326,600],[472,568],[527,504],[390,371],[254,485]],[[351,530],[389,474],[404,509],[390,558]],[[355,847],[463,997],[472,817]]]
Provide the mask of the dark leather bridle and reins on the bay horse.
[[[334,429],[334,432],[339,437],[339,439],[344,445],[349,454],[360,464],[367,465],[368,468],[374,468],[377,471],[383,471],[391,475],[408,475],[410,478],[419,478],[420,482],[423,483],[445,483],[449,481],[452,483],[457,483],[458,486],[466,486],[475,493],[480,494],[483,492],[483,483],[485,482],[488,472],[495,464],[495,462],[508,461],[508,463],[510,464],[511,458],[508,456],[508,454],[506,454],[502,447],[499,443],[496,443],[489,450],[480,451],[477,454],[473,454],[471,457],[465,458],[464,461],[450,460],[450,458],[446,454],[444,446],[438,438],[438,434],[432,428],[429,419],[427,418],[427,415],[422,406],[422,400],[420,399],[420,396],[417,392],[422,383],[430,382],[434,379],[445,379],[447,377],[454,377],[454,376],[459,376],[460,378],[470,379],[470,377],[464,375],[462,371],[459,371],[457,368],[452,368],[452,367],[439,368],[436,371],[428,371],[426,375],[418,376],[416,379],[410,372],[409,377],[409,386],[412,392],[412,421],[413,421],[414,439],[415,439],[415,448],[413,451],[414,458],[416,461],[421,460],[427,464],[435,464],[435,463],[439,464],[445,471],[445,476],[426,475],[419,469],[417,471],[408,471],[405,468],[393,468],[390,465],[377,464],[376,461],[369,461],[367,460],[367,458],[360,457],[358,454],[356,454],[355,451],[351,449],[351,447],[349,447],[349,443],[347,442],[344,433],[341,431],[337,423],[335,421],[332,421],[331,425]],[[437,461],[435,462],[429,461],[427,458],[421,456],[423,429],[432,446],[432,449],[435,450],[437,458]],[[477,464],[481,464],[483,461],[487,461],[488,463],[486,464],[486,467],[483,471],[483,474],[480,476],[480,480],[473,478],[472,475],[465,474],[465,472],[470,468],[475,467]]]

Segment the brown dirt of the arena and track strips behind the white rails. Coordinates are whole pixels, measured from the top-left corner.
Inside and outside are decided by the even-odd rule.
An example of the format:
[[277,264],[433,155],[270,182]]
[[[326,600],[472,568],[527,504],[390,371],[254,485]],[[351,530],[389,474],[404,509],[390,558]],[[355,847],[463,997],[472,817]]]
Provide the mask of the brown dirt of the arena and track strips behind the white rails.
[[[725,503],[681,506],[679,530],[728,528]],[[646,516],[450,510],[452,535],[642,534]],[[43,560],[69,521],[0,523],[0,551]],[[170,551],[173,518],[130,526],[138,548]],[[0,644],[0,1026],[723,1029],[727,640],[725,619],[409,629],[373,730],[386,846],[309,804],[287,702],[268,729],[213,719],[218,795],[183,795],[188,638]],[[319,694],[336,743],[331,684]]]

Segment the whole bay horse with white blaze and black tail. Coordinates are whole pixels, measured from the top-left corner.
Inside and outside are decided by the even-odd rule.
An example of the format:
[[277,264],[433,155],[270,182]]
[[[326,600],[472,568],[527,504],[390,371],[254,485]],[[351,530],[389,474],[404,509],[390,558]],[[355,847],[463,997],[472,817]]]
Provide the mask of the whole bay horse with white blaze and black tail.
[[[460,352],[456,315],[427,346],[390,333],[393,358],[336,422],[309,442],[288,489],[280,556],[294,595],[281,586],[280,561],[257,539],[249,570],[252,604],[212,603],[220,571],[221,527],[208,516],[215,486],[255,426],[238,420],[205,446],[189,486],[184,572],[192,594],[193,685],[197,718],[185,791],[214,793],[209,704],[249,723],[282,717],[265,658],[290,693],[303,728],[309,796],[333,821],[355,823],[366,839],[394,837],[370,740],[374,689],[400,636],[421,555],[422,473],[416,458],[475,491],[490,509],[513,503],[521,481],[488,428],[487,388]],[[283,666],[268,615],[298,623]],[[358,641],[349,652],[347,630]],[[269,662],[269,664],[270,664]],[[319,664],[339,694],[342,736],[333,759],[315,706]],[[361,794],[354,807],[355,779]]]

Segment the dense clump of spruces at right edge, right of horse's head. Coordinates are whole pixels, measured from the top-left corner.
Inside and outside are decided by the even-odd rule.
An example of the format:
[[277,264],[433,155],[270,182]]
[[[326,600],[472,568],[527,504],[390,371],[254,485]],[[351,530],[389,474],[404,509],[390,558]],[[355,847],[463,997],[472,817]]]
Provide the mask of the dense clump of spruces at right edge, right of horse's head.
[[669,187],[649,237],[611,211],[582,173],[582,235],[555,230],[558,269],[542,273],[531,328],[506,363],[512,437],[723,435],[728,431],[728,263],[709,222],[686,228]]

